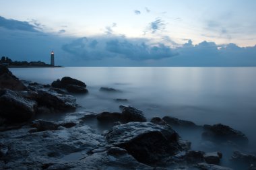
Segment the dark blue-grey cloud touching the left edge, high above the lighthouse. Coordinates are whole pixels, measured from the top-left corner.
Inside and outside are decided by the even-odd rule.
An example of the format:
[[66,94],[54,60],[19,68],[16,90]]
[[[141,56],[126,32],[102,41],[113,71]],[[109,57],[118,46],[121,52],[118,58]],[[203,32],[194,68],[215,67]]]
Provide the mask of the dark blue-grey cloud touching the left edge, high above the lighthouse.
[[38,32],[38,26],[33,26],[28,22],[20,22],[15,19],[6,19],[0,16],[0,27],[8,30],[21,30],[26,32]]

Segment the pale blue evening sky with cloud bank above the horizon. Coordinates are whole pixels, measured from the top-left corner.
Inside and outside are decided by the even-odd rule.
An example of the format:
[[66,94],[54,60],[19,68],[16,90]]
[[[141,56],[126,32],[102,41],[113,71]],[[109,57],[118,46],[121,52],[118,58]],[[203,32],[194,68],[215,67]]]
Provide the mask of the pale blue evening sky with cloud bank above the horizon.
[[1,0],[0,55],[63,66],[256,66],[255,0]]

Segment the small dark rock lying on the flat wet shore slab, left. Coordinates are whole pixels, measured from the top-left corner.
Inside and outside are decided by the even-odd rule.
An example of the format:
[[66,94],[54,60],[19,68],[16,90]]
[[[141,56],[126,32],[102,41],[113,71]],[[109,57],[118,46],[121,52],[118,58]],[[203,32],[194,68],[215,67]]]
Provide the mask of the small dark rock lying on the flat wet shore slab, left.
[[37,132],[45,131],[45,130],[57,130],[59,128],[59,124],[55,124],[53,122],[48,122],[45,120],[35,120],[33,121],[32,128],[36,128]]

